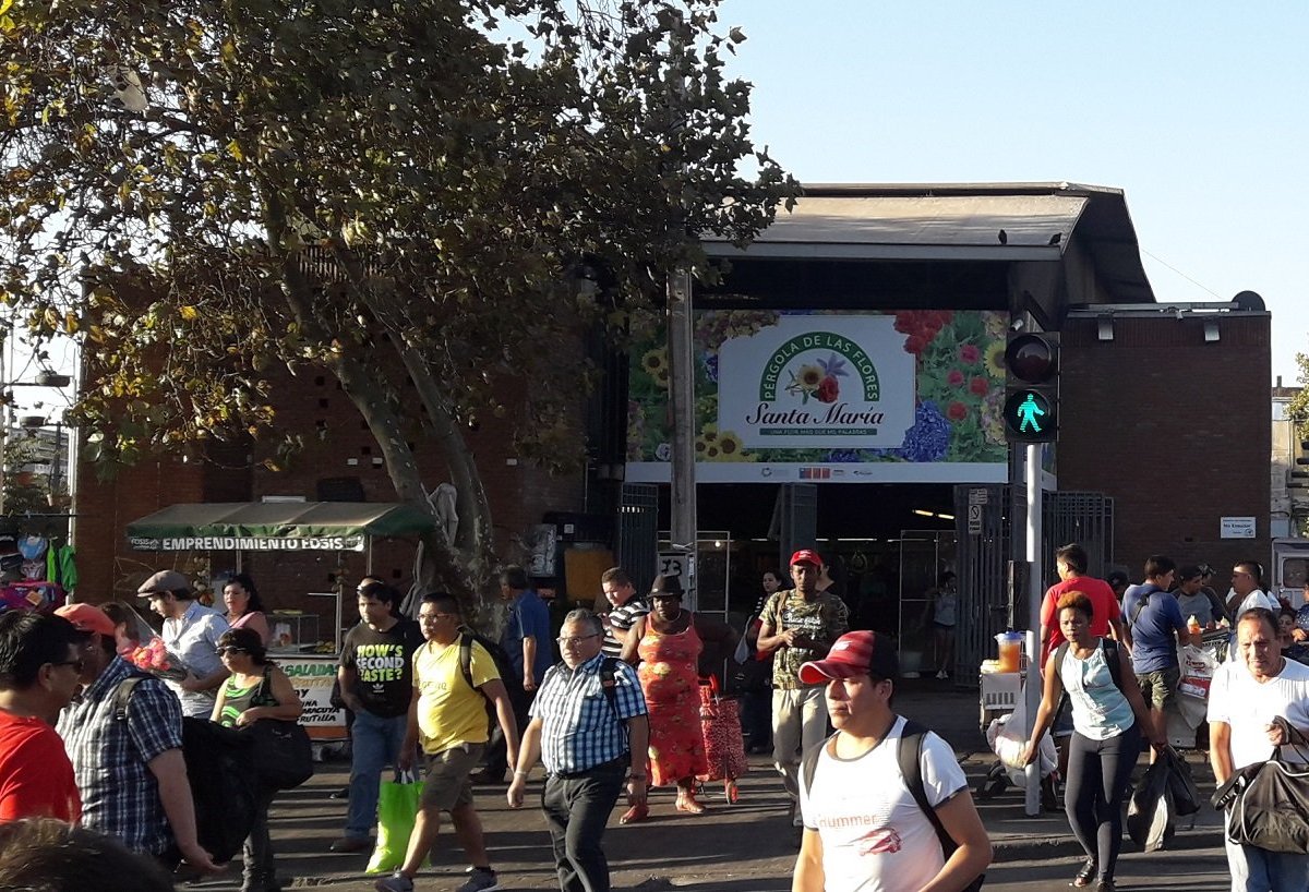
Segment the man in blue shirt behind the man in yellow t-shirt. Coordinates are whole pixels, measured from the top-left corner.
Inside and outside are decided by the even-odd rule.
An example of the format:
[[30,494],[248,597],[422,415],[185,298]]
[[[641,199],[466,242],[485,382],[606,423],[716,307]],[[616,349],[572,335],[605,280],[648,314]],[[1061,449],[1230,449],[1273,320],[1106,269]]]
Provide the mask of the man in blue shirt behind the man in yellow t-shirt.
[[[509,603],[509,621],[500,637],[500,646],[509,659],[504,687],[509,693],[521,738],[537,687],[555,662],[550,649],[550,608],[528,585],[526,570],[513,564],[500,572],[500,598]],[[504,735],[499,726],[493,726],[487,744],[486,768],[473,776],[473,782],[504,783],[508,766]]]

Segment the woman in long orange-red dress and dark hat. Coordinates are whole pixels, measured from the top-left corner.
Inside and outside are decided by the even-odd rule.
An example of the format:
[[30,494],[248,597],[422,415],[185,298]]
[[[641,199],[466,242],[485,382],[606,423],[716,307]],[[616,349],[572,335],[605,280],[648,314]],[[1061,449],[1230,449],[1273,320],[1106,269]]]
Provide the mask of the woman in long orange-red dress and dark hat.
[[[645,706],[649,709],[651,786],[677,785],[677,810],[699,815],[695,776],[708,772],[704,731],[700,727],[700,663],[704,643],[719,662],[736,647],[736,629],[707,616],[682,609],[682,583],[657,577],[649,594],[651,612],[627,633],[622,658],[637,664]],[[632,806],[620,823],[647,816],[644,803]]]

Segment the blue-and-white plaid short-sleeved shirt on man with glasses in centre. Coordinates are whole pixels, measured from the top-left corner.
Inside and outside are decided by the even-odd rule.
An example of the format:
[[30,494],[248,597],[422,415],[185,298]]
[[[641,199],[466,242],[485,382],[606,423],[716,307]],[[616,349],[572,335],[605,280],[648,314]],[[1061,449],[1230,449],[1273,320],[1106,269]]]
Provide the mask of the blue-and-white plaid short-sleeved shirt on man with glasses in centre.
[[576,670],[555,663],[541,683],[530,714],[542,721],[541,761],[551,774],[585,772],[628,752],[626,719],[645,714],[645,696],[636,670],[619,662],[614,667],[618,709],[610,708],[600,679],[603,659],[596,654]]

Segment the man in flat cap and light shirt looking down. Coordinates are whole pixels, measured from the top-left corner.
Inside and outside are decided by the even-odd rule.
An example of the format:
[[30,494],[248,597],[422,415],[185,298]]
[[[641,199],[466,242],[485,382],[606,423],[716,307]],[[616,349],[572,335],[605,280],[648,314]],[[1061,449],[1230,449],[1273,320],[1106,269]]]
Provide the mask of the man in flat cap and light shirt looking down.
[[208,718],[217,689],[229,672],[219,658],[219,638],[228,621],[216,609],[196,603],[190,581],[177,570],[160,570],[141,583],[137,598],[148,598],[151,609],[164,617],[164,646],[182,660],[187,676],[168,681],[182,701],[182,714]]

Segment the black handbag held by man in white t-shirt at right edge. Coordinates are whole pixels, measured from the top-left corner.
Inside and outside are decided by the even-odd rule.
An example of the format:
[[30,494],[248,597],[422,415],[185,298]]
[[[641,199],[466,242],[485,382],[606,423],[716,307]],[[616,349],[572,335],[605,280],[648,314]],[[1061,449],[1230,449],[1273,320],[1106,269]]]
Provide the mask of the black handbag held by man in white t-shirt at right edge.
[[[1305,740],[1284,718],[1272,719],[1287,740]],[[1309,765],[1282,759],[1280,747],[1266,763],[1246,765],[1227,780],[1212,798],[1215,808],[1228,807],[1227,838],[1267,851],[1309,854]]]

